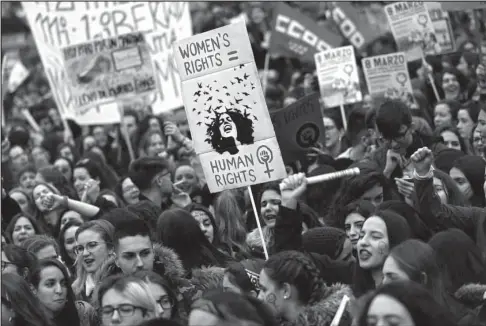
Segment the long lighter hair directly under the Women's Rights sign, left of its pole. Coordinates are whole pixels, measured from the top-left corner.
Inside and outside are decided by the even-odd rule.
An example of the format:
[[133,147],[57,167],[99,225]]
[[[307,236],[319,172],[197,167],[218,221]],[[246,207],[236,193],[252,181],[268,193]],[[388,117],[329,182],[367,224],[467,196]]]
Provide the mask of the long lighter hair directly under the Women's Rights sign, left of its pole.
[[242,254],[249,258],[250,249],[246,244],[247,231],[243,223],[243,212],[233,192],[224,190],[219,194],[214,203],[214,214],[219,222],[221,243],[226,244],[230,255],[235,257],[236,254]]

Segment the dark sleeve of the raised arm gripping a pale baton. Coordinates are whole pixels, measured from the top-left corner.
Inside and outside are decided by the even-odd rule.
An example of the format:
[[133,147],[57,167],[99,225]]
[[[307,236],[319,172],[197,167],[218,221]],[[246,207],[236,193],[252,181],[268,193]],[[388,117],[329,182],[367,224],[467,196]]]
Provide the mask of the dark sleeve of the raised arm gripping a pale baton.
[[296,210],[280,206],[275,221],[275,253],[302,249],[302,221],[298,206]]

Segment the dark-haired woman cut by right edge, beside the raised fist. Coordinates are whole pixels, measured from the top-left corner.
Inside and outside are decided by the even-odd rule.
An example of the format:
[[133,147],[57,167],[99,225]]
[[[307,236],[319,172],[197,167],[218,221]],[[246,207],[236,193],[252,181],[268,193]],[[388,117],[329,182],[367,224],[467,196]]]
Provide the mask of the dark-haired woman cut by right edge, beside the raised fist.
[[486,162],[479,156],[466,155],[457,159],[449,172],[470,205],[485,207],[484,169]]

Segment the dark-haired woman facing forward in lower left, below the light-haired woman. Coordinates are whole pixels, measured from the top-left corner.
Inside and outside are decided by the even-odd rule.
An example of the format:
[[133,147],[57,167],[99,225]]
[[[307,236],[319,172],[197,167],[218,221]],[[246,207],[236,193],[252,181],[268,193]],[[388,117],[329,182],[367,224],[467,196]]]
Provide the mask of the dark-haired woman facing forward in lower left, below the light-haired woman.
[[66,268],[56,259],[40,260],[30,274],[37,299],[57,326],[82,326]]

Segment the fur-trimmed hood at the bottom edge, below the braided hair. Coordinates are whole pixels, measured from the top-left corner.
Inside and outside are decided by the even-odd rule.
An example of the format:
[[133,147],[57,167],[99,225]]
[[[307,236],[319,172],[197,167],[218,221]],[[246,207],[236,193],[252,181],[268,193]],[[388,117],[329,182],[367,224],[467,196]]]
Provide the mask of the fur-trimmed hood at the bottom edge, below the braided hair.
[[[291,323],[282,322],[282,326],[329,326],[338,311],[339,305],[344,295],[353,299],[351,288],[343,284],[333,284],[324,287],[322,290],[321,300],[311,306],[307,306],[301,312],[299,318]],[[351,315],[349,313],[349,304],[344,312],[340,326],[351,325]]]

